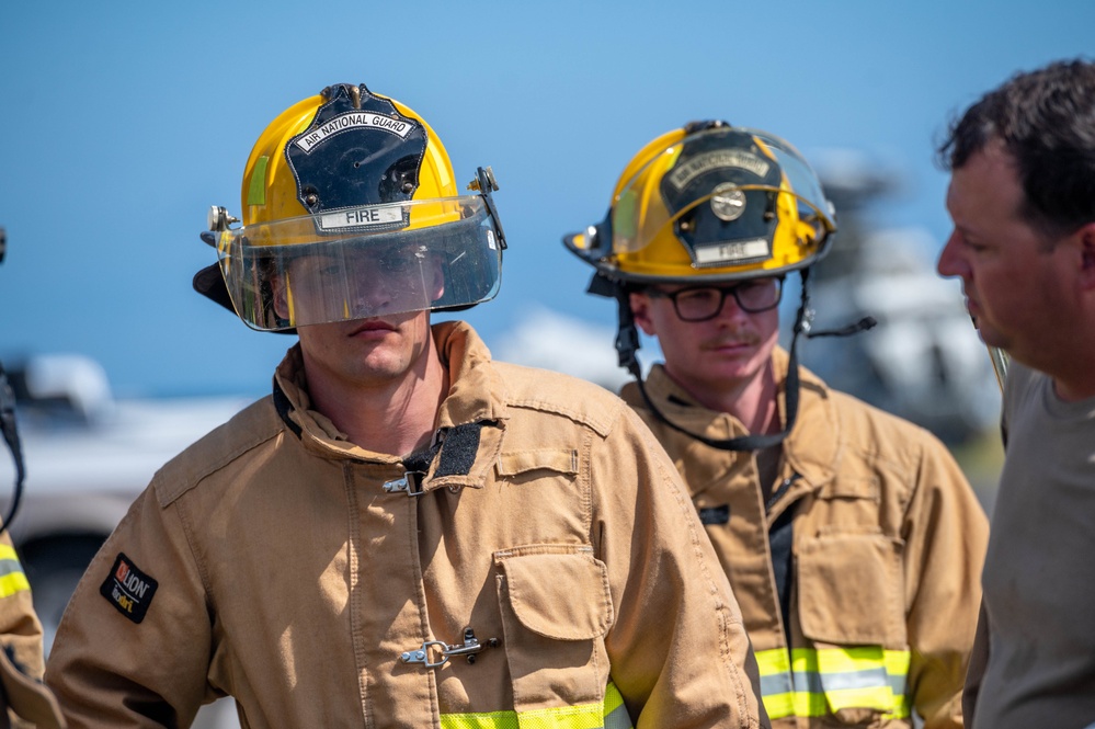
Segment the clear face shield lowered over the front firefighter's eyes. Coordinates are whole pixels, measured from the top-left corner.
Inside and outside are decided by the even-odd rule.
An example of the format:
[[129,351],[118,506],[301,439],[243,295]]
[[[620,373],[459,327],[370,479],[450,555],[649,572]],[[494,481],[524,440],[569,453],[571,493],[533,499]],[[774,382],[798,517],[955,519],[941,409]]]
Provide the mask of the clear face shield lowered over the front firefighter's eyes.
[[483,195],[407,201],[226,229],[217,254],[248,326],[460,309],[498,294],[502,236]]

